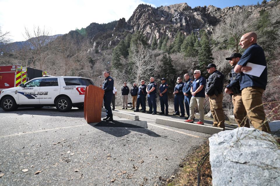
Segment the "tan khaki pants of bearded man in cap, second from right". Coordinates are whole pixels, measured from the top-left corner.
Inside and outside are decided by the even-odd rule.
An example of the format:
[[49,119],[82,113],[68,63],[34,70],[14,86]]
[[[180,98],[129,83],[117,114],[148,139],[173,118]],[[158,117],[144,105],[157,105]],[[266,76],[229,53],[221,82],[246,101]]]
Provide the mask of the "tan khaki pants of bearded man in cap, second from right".
[[234,119],[238,124],[238,126],[250,128],[248,118],[245,119],[247,117],[247,112],[243,105],[241,93],[232,95],[232,103],[233,103]]

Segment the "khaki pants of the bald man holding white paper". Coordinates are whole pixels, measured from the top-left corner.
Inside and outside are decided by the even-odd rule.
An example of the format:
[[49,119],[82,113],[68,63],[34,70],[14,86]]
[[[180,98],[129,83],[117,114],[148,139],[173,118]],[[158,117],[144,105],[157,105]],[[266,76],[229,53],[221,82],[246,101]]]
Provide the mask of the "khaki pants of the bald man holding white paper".
[[262,106],[263,92],[264,90],[259,87],[246,87],[241,92],[242,101],[253,127],[270,133],[268,122],[265,119],[265,111]]

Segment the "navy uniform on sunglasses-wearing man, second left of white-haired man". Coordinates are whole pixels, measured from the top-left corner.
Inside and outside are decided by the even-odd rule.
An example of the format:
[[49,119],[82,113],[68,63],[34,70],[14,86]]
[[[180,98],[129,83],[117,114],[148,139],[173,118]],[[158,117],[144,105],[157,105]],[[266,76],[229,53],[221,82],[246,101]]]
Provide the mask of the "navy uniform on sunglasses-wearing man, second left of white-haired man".
[[179,106],[180,106],[181,116],[185,116],[183,87],[184,87],[184,83],[181,82],[178,83],[174,88],[174,92],[178,90],[178,93],[176,93],[174,97],[174,110],[176,115],[180,115],[179,112]]

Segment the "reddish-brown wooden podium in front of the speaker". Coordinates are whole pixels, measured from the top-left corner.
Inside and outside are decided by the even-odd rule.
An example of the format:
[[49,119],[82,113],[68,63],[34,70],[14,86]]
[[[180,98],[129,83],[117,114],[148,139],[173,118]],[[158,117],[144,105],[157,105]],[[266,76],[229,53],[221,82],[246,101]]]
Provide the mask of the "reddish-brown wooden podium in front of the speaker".
[[104,90],[89,85],[85,89],[84,115],[88,123],[97,123],[101,121],[101,107],[103,103]]

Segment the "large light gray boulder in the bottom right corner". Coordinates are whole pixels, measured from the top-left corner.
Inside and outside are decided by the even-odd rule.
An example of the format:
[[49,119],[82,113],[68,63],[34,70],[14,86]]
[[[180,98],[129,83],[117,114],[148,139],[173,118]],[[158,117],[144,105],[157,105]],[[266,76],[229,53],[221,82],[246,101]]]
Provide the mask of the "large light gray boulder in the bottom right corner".
[[280,185],[280,148],[272,135],[236,128],[209,138],[212,185]]

